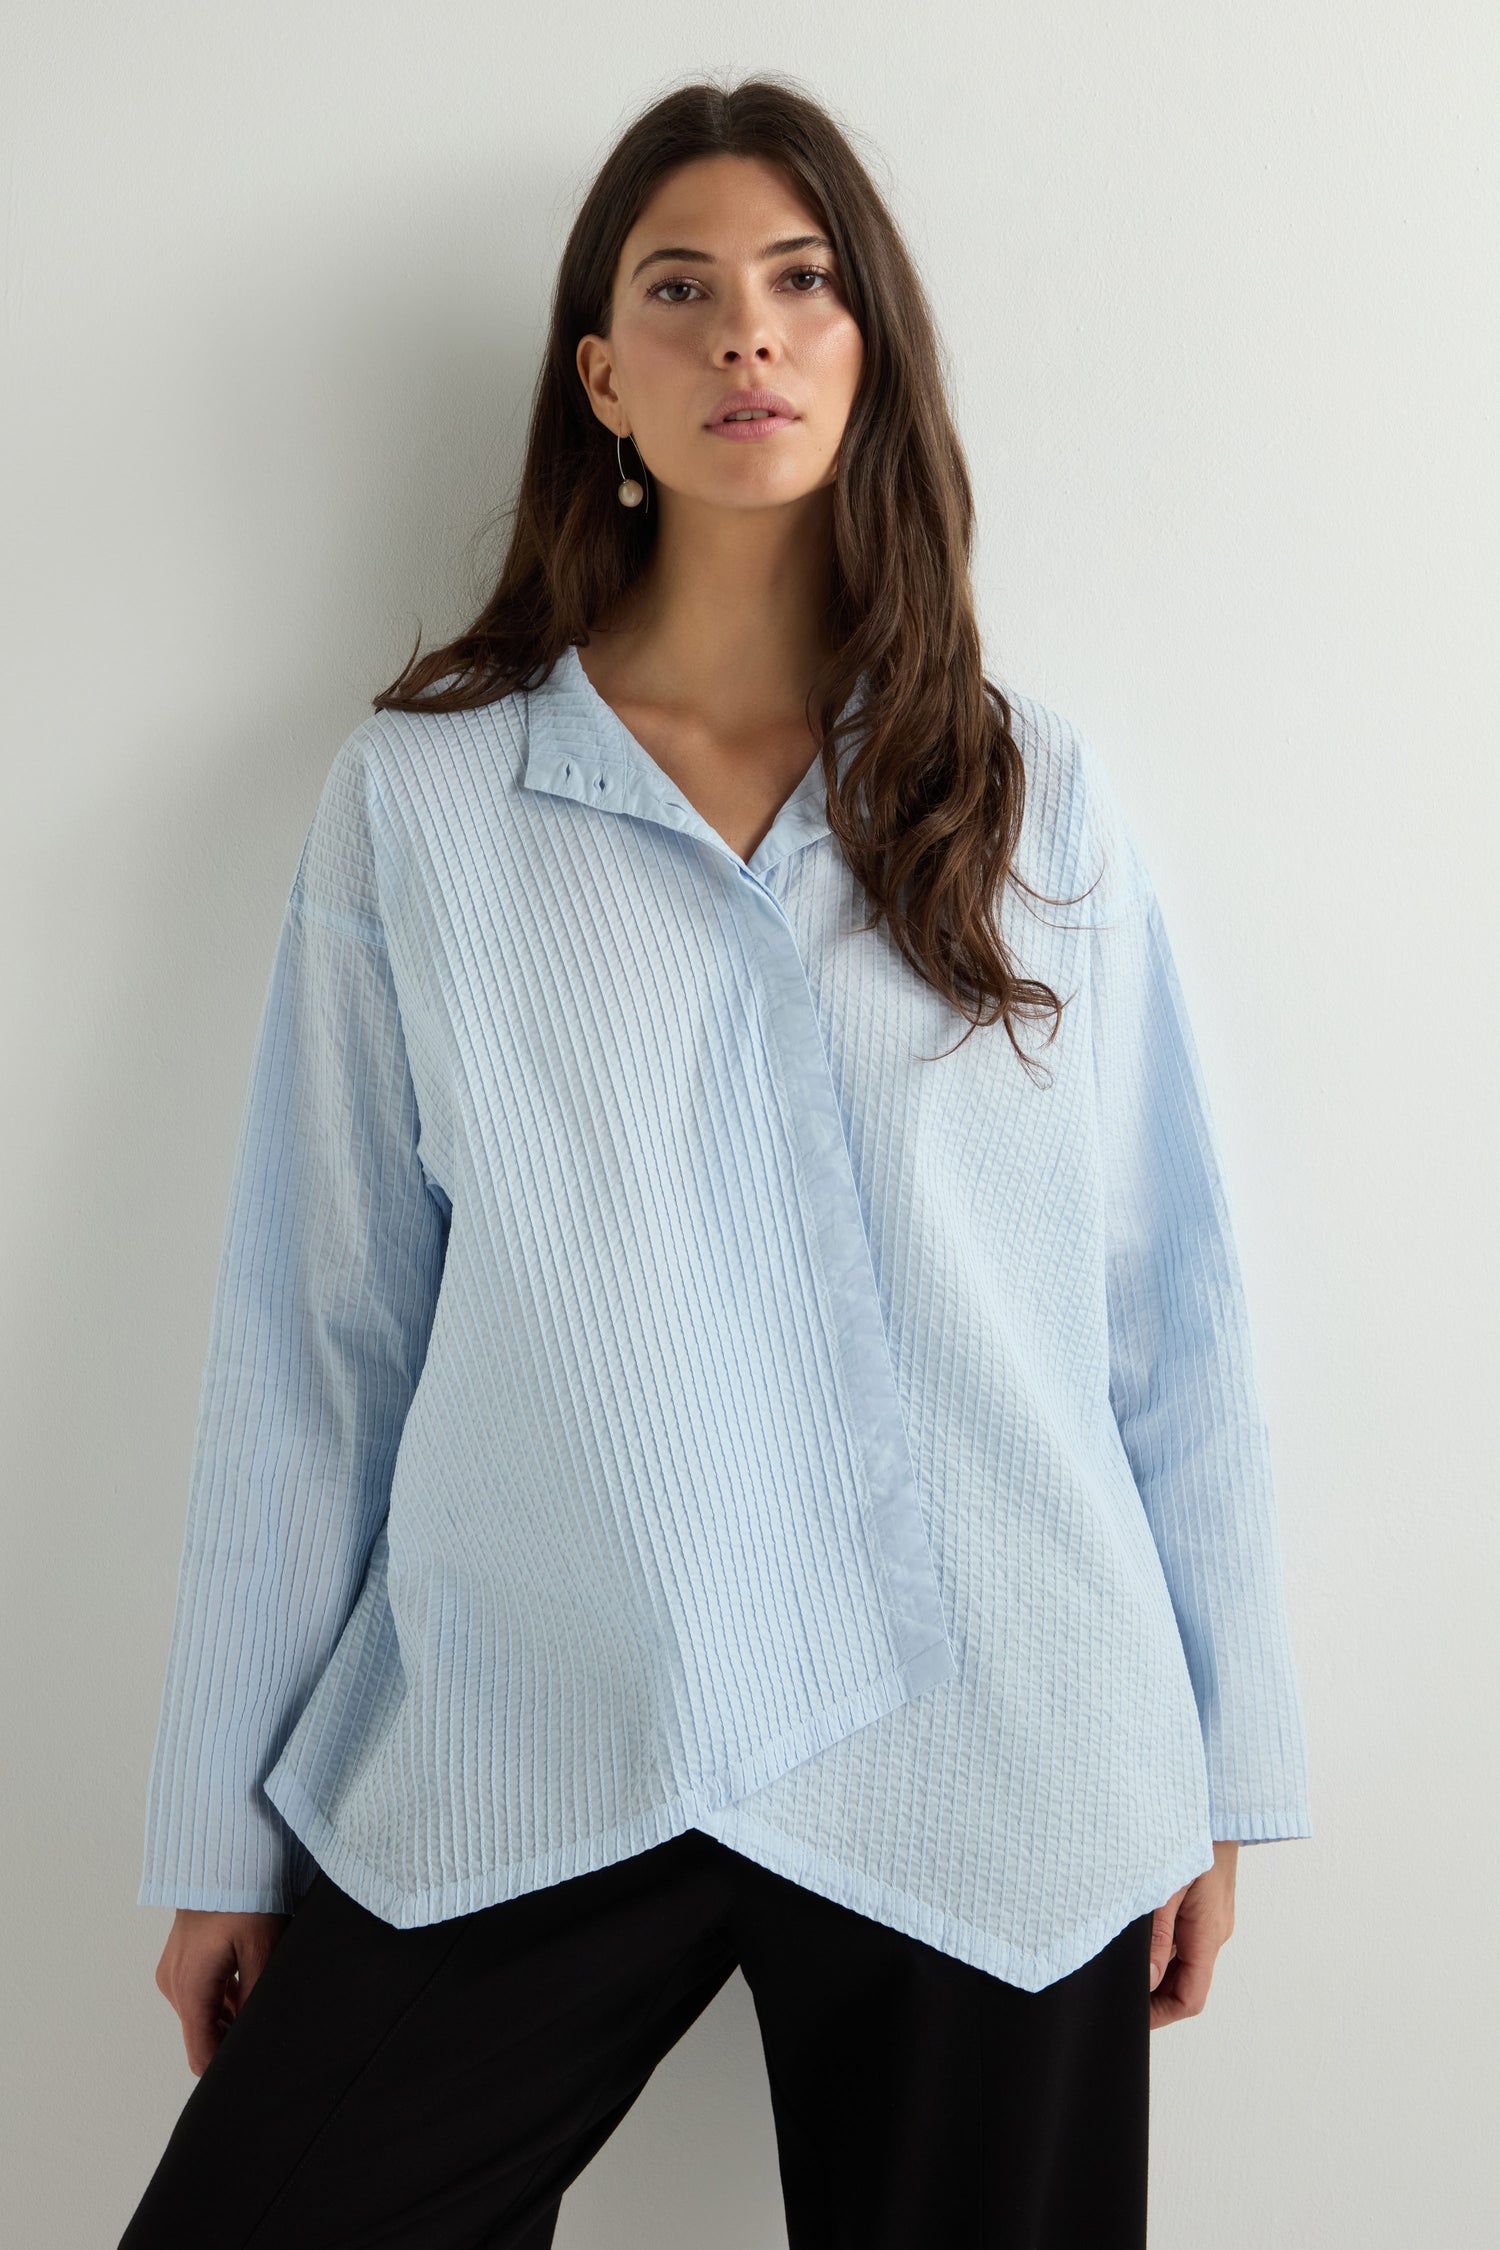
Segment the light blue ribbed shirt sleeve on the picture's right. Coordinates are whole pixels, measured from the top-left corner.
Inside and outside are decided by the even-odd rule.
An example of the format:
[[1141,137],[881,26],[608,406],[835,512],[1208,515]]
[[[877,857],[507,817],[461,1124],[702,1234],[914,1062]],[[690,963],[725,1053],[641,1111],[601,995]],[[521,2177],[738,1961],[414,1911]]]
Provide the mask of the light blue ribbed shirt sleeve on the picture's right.
[[1187,1656],[1210,1834],[1309,1836],[1271,1444],[1203,1069],[1160,902],[1088,754],[1109,1397]]

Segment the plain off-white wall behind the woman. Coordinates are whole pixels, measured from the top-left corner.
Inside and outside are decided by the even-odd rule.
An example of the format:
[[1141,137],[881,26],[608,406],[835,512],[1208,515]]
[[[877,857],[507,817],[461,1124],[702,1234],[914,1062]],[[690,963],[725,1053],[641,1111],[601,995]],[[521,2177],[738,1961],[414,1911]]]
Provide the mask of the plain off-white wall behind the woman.
[[[9,0],[7,2239],[191,2090],[135,1906],[270,954],[333,752],[499,560],[555,256],[641,101],[794,72],[929,281],[990,673],[1154,860],[1230,1166],[1316,1836],[1154,2038],[1158,2250],[1478,2246],[1493,1804],[1500,292],[1489,0]],[[488,526],[488,529],[486,529]],[[234,2194],[234,2182],[225,2182]],[[560,2250],[780,2250],[740,1978]]]

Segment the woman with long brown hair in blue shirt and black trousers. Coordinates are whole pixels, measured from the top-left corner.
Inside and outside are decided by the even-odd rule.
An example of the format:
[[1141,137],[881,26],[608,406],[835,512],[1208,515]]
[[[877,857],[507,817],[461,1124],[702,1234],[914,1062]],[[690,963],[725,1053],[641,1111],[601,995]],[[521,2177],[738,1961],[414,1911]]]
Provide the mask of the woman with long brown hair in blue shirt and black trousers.
[[540,2250],[735,1966],[794,2250],[1145,2241],[1149,2030],[1309,1834],[1302,1710],[1160,909],[969,536],[837,126],[654,104],[501,580],[288,900],[130,2250]]

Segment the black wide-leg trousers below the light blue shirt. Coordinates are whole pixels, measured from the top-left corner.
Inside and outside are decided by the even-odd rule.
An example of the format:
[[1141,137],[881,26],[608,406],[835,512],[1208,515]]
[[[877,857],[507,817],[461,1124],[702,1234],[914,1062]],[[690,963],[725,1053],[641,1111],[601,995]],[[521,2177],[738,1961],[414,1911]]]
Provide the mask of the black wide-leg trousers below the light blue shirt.
[[735,1966],[792,2250],[1140,2250],[1149,1944],[1028,1994],[702,1829],[421,1930],[319,1874],[119,2250],[549,2250]]

